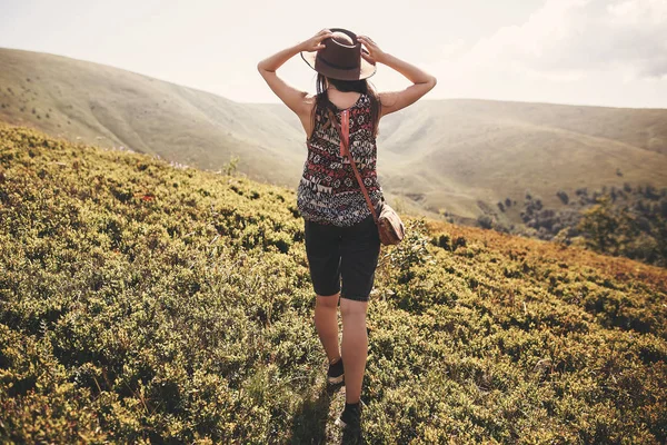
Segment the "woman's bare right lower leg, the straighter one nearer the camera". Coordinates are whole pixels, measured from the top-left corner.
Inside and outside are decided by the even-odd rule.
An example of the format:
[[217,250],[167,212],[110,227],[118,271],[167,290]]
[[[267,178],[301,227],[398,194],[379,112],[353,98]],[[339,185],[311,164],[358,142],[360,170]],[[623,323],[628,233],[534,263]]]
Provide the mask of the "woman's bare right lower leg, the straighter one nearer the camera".
[[356,404],[361,397],[361,384],[368,355],[366,310],[368,301],[340,299],[342,315],[342,364],[345,366],[345,398]]

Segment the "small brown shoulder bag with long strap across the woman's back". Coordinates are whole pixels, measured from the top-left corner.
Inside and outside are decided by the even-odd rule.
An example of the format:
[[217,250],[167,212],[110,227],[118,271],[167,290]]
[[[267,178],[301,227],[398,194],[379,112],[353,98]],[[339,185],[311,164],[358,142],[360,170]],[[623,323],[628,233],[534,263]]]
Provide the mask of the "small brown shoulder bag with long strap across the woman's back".
[[[400,217],[398,216],[396,210],[394,210],[391,207],[389,207],[389,205],[387,204],[387,201],[385,200],[384,197],[382,197],[382,201],[380,202],[380,216],[378,217],[375,208],[372,207],[372,202],[371,202],[370,198],[368,197],[368,191],[366,190],[366,187],[364,186],[364,181],[361,180],[361,175],[359,175],[359,171],[357,170],[357,166],[355,165],[355,160],[352,159],[352,155],[350,154],[348,131],[344,131],[340,129],[338,121],[336,121],[336,116],[334,116],[334,112],[330,109],[329,109],[329,119],[331,120],[331,123],[334,126],[336,126],[336,129],[338,130],[338,135],[340,135],[340,141],[342,142],[342,146],[345,148],[345,150],[344,150],[345,155],[347,155],[347,157],[350,160],[350,165],[352,166],[352,170],[355,170],[355,176],[357,177],[357,181],[359,182],[359,186],[361,187],[361,191],[364,192],[364,197],[366,198],[366,204],[368,204],[368,208],[370,209],[370,212],[372,214],[372,218],[376,221],[376,226],[378,227],[378,233],[380,235],[380,243],[384,245],[399,244],[401,241],[401,239],[404,239],[404,237],[406,236],[406,228],[405,228],[402,221],[400,220]],[[348,130],[349,129],[348,110],[341,111],[341,121],[342,121],[342,126],[344,126],[345,130]]]

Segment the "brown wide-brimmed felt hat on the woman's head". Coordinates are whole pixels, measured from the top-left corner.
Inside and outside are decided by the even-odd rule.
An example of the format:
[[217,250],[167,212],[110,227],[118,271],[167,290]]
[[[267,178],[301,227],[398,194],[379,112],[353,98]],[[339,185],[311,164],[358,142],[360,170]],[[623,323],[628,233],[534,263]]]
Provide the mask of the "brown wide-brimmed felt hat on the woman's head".
[[[361,57],[361,51],[368,51],[361,48],[356,33],[342,28],[329,30],[334,32],[334,37],[322,40],[326,48],[312,52],[301,51],[301,58],[310,68],[328,78],[340,80],[361,80],[376,73],[375,63]],[[352,44],[340,34],[336,36],[337,32],[347,34]]]

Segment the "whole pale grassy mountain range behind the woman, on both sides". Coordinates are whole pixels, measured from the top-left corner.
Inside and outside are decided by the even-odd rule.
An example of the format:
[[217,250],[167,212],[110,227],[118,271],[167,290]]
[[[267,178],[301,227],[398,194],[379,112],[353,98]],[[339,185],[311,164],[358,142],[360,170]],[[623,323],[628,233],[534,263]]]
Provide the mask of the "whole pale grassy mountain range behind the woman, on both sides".
[[[120,69],[0,49],[0,119],[296,188],[303,130],[282,105],[250,105]],[[100,139],[103,138],[103,139]],[[404,211],[472,221],[529,192],[667,187],[667,110],[422,100],[382,119],[378,177]],[[520,224],[520,207],[498,215]]]

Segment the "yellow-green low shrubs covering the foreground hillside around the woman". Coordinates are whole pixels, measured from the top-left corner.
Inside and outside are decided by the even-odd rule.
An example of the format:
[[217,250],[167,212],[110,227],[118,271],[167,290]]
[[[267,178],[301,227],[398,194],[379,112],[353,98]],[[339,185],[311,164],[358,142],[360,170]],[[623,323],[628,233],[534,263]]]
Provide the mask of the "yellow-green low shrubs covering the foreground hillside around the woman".
[[[667,441],[667,271],[406,216],[372,444]],[[292,190],[0,126],[0,442],[331,443]]]

